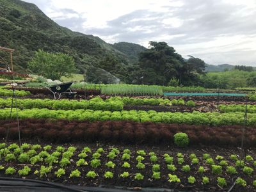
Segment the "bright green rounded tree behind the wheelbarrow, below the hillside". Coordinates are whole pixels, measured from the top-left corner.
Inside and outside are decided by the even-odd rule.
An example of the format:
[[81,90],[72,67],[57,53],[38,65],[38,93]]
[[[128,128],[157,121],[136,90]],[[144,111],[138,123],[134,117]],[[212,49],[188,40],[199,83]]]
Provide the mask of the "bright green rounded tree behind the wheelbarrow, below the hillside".
[[51,53],[38,50],[29,61],[28,68],[40,76],[56,80],[76,72],[75,62],[71,56],[62,52]]

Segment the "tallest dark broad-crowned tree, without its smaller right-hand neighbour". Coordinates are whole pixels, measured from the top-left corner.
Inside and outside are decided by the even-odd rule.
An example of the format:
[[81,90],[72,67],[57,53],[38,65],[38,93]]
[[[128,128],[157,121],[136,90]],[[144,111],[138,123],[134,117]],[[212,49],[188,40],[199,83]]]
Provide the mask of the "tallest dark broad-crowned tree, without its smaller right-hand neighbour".
[[168,84],[172,77],[179,78],[184,60],[166,42],[149,42],[150,49],[140,53],[141,68],[138,81],[143,84]]

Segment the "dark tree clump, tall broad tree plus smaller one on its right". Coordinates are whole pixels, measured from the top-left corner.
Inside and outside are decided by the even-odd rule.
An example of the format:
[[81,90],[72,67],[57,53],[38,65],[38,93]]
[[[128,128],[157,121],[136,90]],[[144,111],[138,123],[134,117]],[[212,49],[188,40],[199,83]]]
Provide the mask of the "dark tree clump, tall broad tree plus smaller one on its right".
[[166,42],[149,44],[150,49],[140,53],[136,82],[167,85],[170,79],[179,79],[179,84],[198,85],[199,74],[204,74],[204,61],[193,56],[185,61]]

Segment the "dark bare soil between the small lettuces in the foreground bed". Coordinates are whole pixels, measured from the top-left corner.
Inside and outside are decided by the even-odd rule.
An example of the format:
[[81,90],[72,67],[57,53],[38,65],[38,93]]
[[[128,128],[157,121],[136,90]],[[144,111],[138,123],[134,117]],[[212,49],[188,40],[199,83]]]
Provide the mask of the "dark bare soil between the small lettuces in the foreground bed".
[[[2,141],[3,142],[3,141]],[[52,150],[49,151],[49,154],[53,152],[54,148],[56,148],[58,145],[49,143],[47,141],[40,141],[40,140],[22,140],[22,143],[27,142],[31,144],[41,144],[42,147],[45,145],[52,145]],[[56,175],[54,175],[54,172],[60,168],[60,165],[58,163],[54,163],[52,166],[51,173],[48,173],[47,175],[44,175],[43,177],[39,177],[39,175],[35,175],[35,170],[40,170],[40,165],[47,166],[46,163],[36,163],[35,165],[32,165],[30,163],[22,163],[20,164],[19,161],[11,161],[9,163],[6,163],[4,159],[2,158],[0,163],[4,166],[4,168],[7,168],[8,166],[13,166],[17,170],[20,170],[25,165],[28,165],[31,168],[31,172],[28,176],[26,176],[26,179],[40,179],[40,180],[47,180],[51,182],[58,182],[62,184],[79,184],[80,186],[104,186],[106,188],[110,188],[111,186],[126,186],[131,188],[140,189],[141,187],[149,187],[149,188],[168,188],[168,189],[180,189],[180,190],[189,190],[189,191],[228,191],[228,189],[232,186],[234,182],[234,178],[241,177],[247,182],[246,188],[241,186],[235,186],[233,191],[255,191],[255,188],[252,186],[252,182],[255,179],[255,177],[245,175],[241,168],[237,168],[238,174],[235,175],[228,175],[225,172],[225,166],[223,166],[223,172],[220,175],[215,175],[211,172],[211,166],[209,164],[206,164],[205,161],[202,159],[203,154],[210,154],[212,159],[214,159],[214,162],[216,164],[220,163],[220,160],[216,160],[215,157],[217,155],[223,156],[225,160],[228,162],[228,166],[236,166],[235,161],[230,159],[230,154],[236,154],[239,159],[243,159],[243,151],[239,148],[234,147],[225,147],[225,148],[218,148],[218,147],[188,147],[185,149],[182,148],[176,148],[176,147],[170,147],[170,146],[162,146],[162,147],[148,147],[147,145],[104,145],[101,143],[76,143],[76,145],[72,143],[64,144],[63,147],[67,149],[67,147],[74,146],[77,147],[76,152],[74,152],[74,156],[70,159],[71,164],[65,167],[65,175],[63,175],[61,178],[56,178]],[[102,147],[105,152],[102,154],[102,156],[99,158],[101,161],[101,166],[98,168],[92,168],[90,166],[90,161],[92,159],[92,154],[87,153],[88,157],[85,157],[84,159],[88,162],[88,165],[86,166],[76,166],[76,161],[79,159],[77,156],[81,150],[83,150],[83,147],[90,147],[92,149],[92,152],[95,152],[97,148]],[[107,157],[108,152],[111,150],[111,148],[116,147],[120,150],[120,154],[117,154],[117,157],[115,159],[109,159]],[[122,160],[122,151],[126,148],[129,148],[131,150],[131,159],[128,160],[131,164],[131,168],[123,168],[122,164],[124,163],[124,160]],[[147,155],[145,156],[145,159],[142,161],[142,163],[145,164],[145,169],[139,170],[136,168],[136,164],[138,163],[136,161],[136,157],[138,154],[136,154],[137,150],[145,150]],[[148,156],[149,152],[155,152],[156,156],[158,157],[157,164],[160,164],[160,171],[161,172],[161,179],[154,180],[151,178],[152,175],[152,162],[150,162],[150,156]],[[39,152],[39,151],[38,151]],[[180,152],[184,155],[184,163],[178,164],[177,163],[177,153]],[[255,156],[255,148],[250,148],[249,150],[246,150],[246,154],[250,154],[253,159],[256,158]],[[163,154],[169,154],[170,156],[174,157],[173,164],[176,166],[177,170],[175,172],[171,172],[166,168],[166,162],[164,161]],[[191,160],[189,159],[189,154],[196,154],[196,157],[199,159],[199,164],[191,164]],[[113,163],[116,164],[116,167],[114,169],[108,168],[104,164],[108,161],[113,161]],[[252,165],[253,162],[246,162],[246,166],[250,166],[253,168]],[[191,167],[191,171],[188,173],[184,173],[181,168],[182,165],[189,164]],[[204,166],[206,172],[205,173],[198,173],[198,167]],[[78,170],[81,172],[81,177],[78,178],[70,178],[69,175],[72,172],[72,170]],[[89,179],[86,177],[86,173],[88,171],[95,171],[99,176],[95,179]],[[105,179],[104,173],[105,172],[113,172],[114,177],[112,179]],[[119,175],[123,172],[129,172],[130,176],[126,179],[122,179],[119,177]],[[135,173],[141,173],[144,175],[143,180],[135,180],[134,175]],[[180,179],[180,183],[170,183],[168,182],[168,174],[175,174]],[[4,170],[0,171],[0,175],[6,177],[4,174]],[[192,175],[196,178],[195,184],[189,184],[188,183],[188,177],[189,175]],[[210,184],[203,185],[201,183],[202,176],[209,177]],[[15,173],[12,175],[12,177],[20,177],[18,173]],[[220,188],[220,186],[217,185],[216,179],[217,177],[225,177],[227,181],[227,187]]]

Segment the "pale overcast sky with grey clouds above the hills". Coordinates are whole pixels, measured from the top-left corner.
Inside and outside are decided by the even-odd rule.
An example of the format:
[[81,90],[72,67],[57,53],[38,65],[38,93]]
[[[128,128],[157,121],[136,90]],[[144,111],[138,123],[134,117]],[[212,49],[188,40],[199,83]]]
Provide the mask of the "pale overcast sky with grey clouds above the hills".
[[256,66],[256,0],[24,0],[111,44],[164,41],[209,64]]

